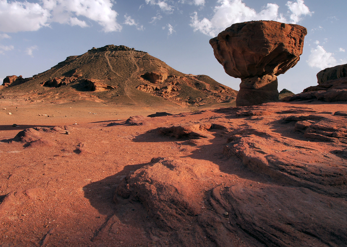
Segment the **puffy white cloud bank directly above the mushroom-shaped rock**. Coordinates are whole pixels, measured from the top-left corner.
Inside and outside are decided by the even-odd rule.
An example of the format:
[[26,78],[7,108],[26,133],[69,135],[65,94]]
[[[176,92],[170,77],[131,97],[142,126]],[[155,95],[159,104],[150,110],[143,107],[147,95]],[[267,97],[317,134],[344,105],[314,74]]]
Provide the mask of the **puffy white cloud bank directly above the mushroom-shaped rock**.
[[[220,31],[237,22],[250,20],[287,22],[284,15],[278,12],[279,6],[275,3],[268,3],[260,12],[246,6],[242,0],[218,0],[217,3],[219,5],[214,7],[214,15],[211,19],[203,18],[200,20],[198,13],[194,12],[191,16],[190,24],[194,31],[200,31],[214,37]],[[296,0],[296,2],[288,1],[286,6],[291,12],[290,19],[292,23],[299,21],[302,15],[312,14],[303,0]]]

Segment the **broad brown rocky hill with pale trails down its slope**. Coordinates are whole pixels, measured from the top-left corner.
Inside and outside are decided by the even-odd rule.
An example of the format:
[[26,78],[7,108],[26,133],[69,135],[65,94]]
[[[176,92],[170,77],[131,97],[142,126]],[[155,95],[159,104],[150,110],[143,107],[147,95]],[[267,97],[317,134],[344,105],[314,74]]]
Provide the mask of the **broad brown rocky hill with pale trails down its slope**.
[[0,90],[6,92],[31,92],[42,100],[54,94],[55,99],[90,96],[125,105],[181,106],[232,102],[237,94],[208,76],[186,75],[146,52],[114,45],[70,56],[32,78],[8,77]]

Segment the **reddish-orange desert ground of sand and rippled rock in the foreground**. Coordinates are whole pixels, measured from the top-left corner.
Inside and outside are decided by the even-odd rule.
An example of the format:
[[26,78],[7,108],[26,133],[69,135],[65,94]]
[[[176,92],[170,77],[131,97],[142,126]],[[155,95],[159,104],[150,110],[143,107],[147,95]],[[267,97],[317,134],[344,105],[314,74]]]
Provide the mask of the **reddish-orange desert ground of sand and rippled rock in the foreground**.
[[347,246],[346,109],[3,95],[0,246]]

